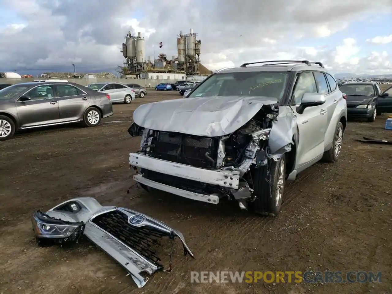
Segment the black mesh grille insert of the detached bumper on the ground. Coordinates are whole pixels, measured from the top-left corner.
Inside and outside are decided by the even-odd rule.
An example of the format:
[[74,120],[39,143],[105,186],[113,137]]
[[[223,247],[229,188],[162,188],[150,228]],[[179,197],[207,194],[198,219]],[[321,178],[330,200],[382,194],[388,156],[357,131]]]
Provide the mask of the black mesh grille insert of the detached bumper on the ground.
[[118,210],[100,214],[92,222],[158,267],[163,267],[157,251],[162,247],[162,237],[168,236],[164,232],[147,226],[134,227],[128,222],[128,216]]

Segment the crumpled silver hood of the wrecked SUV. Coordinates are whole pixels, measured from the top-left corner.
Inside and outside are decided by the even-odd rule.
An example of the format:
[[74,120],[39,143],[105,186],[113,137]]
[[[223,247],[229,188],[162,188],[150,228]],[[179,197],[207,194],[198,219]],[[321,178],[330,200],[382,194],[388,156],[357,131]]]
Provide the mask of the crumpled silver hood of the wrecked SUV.
[[236,131],[263,105],[277,102],[276,98],[253,96],[167,100],[140,105],[133,121],[147,129],[216,137]]

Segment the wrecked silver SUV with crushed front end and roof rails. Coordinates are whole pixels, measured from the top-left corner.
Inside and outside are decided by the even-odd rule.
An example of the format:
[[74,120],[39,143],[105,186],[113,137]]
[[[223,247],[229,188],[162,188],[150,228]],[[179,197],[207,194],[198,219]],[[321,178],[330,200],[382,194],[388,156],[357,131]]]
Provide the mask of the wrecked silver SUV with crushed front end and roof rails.
[[[249,66],[251,65],[251,66]],[[252,62],[211,74],[184,99],[141,105],[129,154],[143,188],[277,215],[285,180],[336,162],[347,104],[320,62]]]

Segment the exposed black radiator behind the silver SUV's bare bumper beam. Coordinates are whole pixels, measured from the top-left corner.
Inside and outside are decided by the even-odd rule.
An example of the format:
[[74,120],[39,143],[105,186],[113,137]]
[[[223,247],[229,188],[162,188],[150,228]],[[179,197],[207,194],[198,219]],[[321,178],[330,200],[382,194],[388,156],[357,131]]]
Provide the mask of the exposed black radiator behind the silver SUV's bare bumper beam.
[[216,166],[218,140],[171,132],[155,132],[149,156],[211,169]]

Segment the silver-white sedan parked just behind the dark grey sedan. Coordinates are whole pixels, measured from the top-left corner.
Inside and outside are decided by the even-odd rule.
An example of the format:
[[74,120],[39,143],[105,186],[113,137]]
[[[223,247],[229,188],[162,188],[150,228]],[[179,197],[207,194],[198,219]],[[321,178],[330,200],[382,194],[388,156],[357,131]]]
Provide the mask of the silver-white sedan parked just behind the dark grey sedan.
[[107,93],[110,96],[111,102],[123,102],[129,104],[136,99],[135,90],[120,83],[95,83],[89,86],[90,89]]

